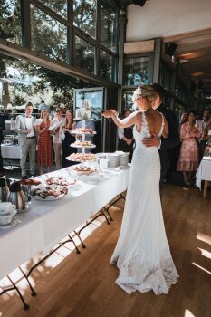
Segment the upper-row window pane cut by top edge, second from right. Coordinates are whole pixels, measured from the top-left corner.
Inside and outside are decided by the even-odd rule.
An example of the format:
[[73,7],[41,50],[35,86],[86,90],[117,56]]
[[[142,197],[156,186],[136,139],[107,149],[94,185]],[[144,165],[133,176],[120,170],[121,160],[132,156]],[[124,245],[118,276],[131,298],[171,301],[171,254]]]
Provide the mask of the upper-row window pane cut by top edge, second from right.
[[96,38],[97,0],[73,0],[73,24]]

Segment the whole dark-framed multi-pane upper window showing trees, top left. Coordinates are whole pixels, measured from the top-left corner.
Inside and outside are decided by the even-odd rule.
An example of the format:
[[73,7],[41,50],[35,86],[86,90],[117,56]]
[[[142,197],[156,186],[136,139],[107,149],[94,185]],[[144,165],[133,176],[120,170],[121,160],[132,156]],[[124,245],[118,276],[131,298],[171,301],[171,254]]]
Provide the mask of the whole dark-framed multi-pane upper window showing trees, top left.
[[117,82],[119,13],[115,0],[0,0],[0,38],[52,59],[52,65],[62,62],[79,78],[82,69],[93,82]]

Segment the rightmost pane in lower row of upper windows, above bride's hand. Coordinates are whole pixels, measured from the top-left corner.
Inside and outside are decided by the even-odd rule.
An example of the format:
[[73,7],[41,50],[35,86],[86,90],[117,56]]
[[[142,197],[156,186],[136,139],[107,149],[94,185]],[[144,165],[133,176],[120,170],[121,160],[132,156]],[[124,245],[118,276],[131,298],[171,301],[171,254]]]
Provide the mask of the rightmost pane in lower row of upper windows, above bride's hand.
[[106,81],[116,82],[116,58],[101,50],[100,76]]

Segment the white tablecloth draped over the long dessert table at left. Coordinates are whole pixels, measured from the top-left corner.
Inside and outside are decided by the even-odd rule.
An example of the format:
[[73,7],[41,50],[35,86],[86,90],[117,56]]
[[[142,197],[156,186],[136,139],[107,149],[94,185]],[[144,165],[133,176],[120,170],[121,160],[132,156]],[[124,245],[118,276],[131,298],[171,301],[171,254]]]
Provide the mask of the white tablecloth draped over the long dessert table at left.
[[[50,173],[65,176],[62,169]],[[43,176],[42,178],[46,178]],[[21,222],[9,229],[0,229],[0,278],[32,256],[44,254],[82,226],[93,214],[127,188],[129,168],[107,171],[96,177],[78,179],[61,200],[33,199],[29,211],[15,216]]]

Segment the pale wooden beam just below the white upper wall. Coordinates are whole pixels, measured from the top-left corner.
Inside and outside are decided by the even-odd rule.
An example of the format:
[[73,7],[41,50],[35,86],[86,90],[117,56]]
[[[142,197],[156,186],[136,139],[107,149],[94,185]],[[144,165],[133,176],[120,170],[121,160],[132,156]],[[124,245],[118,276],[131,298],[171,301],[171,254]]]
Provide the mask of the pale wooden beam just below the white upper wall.
[[124,44],[124,53],[125,54],[136,54],[136,53],[149,53],[154,52],[155,50],[155,41],[140,41]]

